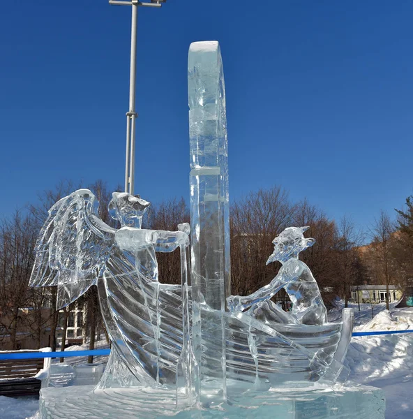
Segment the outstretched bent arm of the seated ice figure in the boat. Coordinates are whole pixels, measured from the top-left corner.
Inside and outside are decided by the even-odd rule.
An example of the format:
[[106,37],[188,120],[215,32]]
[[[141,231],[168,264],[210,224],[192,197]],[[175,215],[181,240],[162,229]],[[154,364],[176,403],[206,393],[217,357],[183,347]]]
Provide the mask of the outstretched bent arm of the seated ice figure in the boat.
[[276,295],[289,281],[283,270],[280,270],[276,277],[266,286],[263,286],[255,293],[241,297],[241,295],[230,295],[227,297],[228,309],[230,311],[243,311],[257,302],[269,300]]

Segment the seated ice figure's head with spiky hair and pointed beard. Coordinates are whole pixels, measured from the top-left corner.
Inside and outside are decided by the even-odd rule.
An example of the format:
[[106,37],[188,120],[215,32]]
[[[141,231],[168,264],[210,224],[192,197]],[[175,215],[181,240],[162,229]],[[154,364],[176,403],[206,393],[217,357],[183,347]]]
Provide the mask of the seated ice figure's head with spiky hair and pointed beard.
[[268,265],[271,262],[279,260],[285,262],[290,258],[297,258],[300,251],[313,246],[314,239],[306,239],[303,235],[304,231],[310,227],[288,227],[283,233],[280,233],[274,240],[274,251],[266,261]]

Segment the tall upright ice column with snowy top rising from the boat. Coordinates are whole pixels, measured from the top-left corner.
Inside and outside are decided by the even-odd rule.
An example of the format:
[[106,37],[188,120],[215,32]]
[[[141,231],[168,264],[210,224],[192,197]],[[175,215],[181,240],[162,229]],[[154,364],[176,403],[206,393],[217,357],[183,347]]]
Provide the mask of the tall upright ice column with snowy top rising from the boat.
[[[216,372],[213,379],[222,383],[225,399],[224,311],[225,297],[230,295],[230,217],[225,83],[216,41],[190,45],[188,101],[193,343],[201,366],[201,381],[212,378],[205,374],[208,360],[209,371],[212,367]],[[221,312],[218,322],[208,307]],[[213,348],[204,345],[208,341],[214,342]],[[211,360],[215,365],[211,365]]]

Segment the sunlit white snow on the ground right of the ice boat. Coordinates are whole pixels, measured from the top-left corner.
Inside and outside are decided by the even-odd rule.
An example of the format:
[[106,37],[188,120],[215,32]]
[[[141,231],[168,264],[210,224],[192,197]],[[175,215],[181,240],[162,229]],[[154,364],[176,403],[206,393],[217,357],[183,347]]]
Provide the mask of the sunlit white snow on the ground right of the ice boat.
[[[385,308],[375,307],[382,311],[372,319],[369,304],[361,304],[361,311],[355,306],[354,332],[413,329],[413,309]],[[354,337],[345,364],[350,383],[384,390],[386,419],[413,418],[413,333]]]

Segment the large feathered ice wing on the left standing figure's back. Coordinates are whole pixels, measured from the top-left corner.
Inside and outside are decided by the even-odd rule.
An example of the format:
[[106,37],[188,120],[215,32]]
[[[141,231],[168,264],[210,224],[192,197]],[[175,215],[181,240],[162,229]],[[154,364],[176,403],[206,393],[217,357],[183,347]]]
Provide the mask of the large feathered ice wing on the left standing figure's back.
[[62,198],[36,244],[31,286],[58,286],[64,307],[96,284],[114,243],[115,230],[98,218],[98,202],[88,189]]

